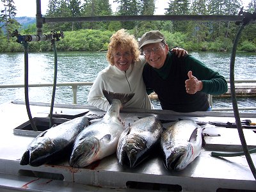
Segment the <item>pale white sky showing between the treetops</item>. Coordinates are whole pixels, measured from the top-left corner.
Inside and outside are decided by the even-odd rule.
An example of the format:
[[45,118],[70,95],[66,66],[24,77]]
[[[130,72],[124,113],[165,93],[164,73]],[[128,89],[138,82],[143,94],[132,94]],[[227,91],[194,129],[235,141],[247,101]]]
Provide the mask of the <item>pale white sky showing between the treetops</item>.
[[[36,17],[36,0],[13,0],[17,9],[16,17]],[[49,0],[41,0],[41,12],[42,15],[46,13],[48,9]],[[243,0],[243,6],[246,7],[250,0]],[[116,3],[110,0],[109,3],[112,4],[113,12],[116,12]],[[164,8],[168,8],[168,1],[166,0],[156,0],[156,13],[155,15],[164,15]]]

